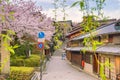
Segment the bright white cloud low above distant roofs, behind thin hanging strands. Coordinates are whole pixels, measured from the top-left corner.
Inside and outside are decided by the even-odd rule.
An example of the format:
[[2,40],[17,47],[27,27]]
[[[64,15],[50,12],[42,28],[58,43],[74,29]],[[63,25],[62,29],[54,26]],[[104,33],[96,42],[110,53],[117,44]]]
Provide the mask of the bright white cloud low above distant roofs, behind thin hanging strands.
[[[57,11],[57,20],[62,21],[63,13],[61,12],[61,8]],[[44,10],[43,13],[47,14],[48,17],[54,18],[53,9]],[[81,22],[82,21],[82,13],[78,10],[77,7],[74,8],[67,8],[66,10],[67,16],[66,20],[72,20],[73,22]]]

